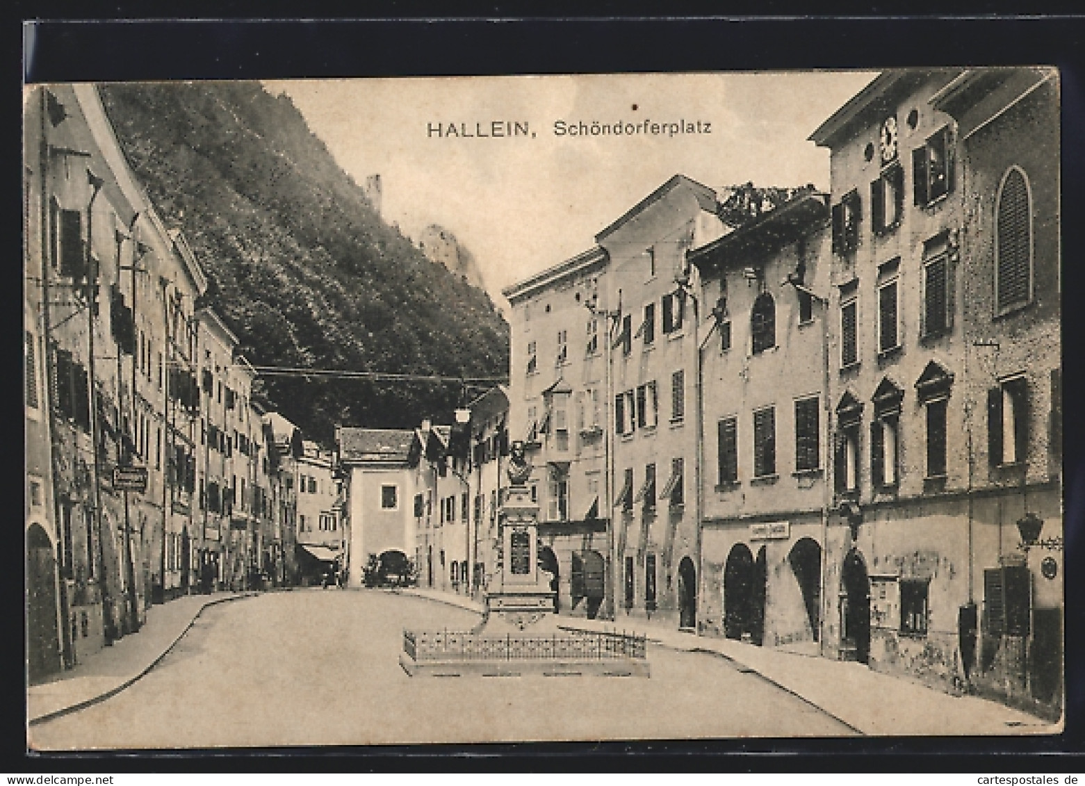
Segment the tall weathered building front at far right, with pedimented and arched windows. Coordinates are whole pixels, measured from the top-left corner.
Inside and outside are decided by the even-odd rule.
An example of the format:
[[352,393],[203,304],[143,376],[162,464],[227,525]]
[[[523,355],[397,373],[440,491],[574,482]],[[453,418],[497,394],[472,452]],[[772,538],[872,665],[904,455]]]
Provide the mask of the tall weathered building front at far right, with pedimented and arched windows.
[[1057,105],[1043,70],[888,72],[810,137],[832,181],[827,643],[1048,705],[1061,563],[1030,530],[1061,543]]

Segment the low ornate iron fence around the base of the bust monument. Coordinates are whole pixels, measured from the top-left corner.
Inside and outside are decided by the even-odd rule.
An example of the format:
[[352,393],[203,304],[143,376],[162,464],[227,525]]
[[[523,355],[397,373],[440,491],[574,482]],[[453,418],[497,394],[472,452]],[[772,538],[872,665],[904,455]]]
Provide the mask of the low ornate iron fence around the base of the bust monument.
[[644,658],[646,649],[646,636],[616,632],[485,636],[459,631],[404,631],[404,652],[416,662]]

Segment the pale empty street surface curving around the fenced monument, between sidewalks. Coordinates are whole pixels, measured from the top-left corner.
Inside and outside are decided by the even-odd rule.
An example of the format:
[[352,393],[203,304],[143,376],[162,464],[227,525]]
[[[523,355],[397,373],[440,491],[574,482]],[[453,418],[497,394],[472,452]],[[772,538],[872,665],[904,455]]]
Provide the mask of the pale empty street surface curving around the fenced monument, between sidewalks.
[[709,654],[650,645],[650,679],[411,679],[401,629],[477,617],[382,592],[302,590],[207,608],[106,701],[30,729],[42,749],[845,735]]

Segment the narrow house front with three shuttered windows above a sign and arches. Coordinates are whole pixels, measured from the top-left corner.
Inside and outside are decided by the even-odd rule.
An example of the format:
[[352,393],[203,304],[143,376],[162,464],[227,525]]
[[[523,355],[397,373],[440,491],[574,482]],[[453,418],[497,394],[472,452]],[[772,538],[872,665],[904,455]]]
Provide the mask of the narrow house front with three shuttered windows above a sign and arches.
[[[827,478],[828,206],[805,193],[694,249],[700,356],[699,628],[817,653]],[[782,284],[781,284],[782,282]]]

